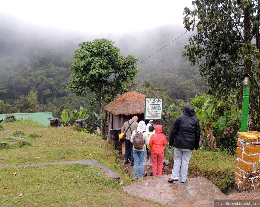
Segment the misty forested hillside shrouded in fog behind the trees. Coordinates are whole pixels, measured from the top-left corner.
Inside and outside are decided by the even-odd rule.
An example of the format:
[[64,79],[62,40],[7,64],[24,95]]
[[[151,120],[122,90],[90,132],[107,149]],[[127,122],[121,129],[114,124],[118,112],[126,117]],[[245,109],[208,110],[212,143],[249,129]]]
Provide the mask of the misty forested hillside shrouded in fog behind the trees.
[[[184,32],[183,27],[168,25],[120,35],[91,35],[91,31],[84,34],[32,27],[0,15],[0,100],[11,105],[11,108],[6,106],[10,112],[32,112],[23,99],[33,91],[38,94],[39,110],[45,112],[49,108],[54,116],[59,116],[62,109],[78,109],[81,105],[97,111],[95,105],[87,105],[91,95],[75,98],[73,93],[65,92],[71,80],[69,67],[77,44],[107,38],[115,42],[123,56],[132,54],[139,58],[139,63]],[[139,86],[132,89],[138,91],[144,81],[149,81],[148,85],[145,82],[146,87],[159,88],[169,98],[166,105],[171,100],[188,102],[196,94],[202,95],[207,87],[198,67],[192,67],[187,58],[182,57],[183,46],[191,34],[185,33],[138,64],[140,72],[135,82]],[[0,109],[0,113],[3,112],[7,109]]]

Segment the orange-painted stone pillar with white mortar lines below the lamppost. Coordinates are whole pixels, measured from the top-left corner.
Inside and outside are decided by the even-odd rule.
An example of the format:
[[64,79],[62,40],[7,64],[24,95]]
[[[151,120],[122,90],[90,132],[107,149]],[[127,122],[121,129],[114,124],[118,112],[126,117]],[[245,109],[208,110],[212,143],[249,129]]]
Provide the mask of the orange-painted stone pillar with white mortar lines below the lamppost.
[[260,132],[237,132],[235,186],[238,190],[255,189],[260,183]]

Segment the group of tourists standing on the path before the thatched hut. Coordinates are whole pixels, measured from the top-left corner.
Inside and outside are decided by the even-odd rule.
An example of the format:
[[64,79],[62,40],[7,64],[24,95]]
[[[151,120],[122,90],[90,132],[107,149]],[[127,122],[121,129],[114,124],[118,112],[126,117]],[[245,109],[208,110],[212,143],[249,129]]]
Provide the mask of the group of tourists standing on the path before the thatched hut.
[[[192,150],[198,149],[200,140],[199,121],[195,118],[195,110],[191,104],[187,104],[183,108],[183,114],[179,115],[172,126],[169,145],[174,146],[174,165],[171,177],[168,182],[179,180],[184,183],[187,179],[189,159]],[[138,178],[138,162],[139,177],[147,176],[148,160],[151,163],[150,175],[162,175],[164,146],[167,144],[166,136],[162,134],[163,127],[157,124],[154,129],[154,121],[150,120],[146,125],[144,121],[137,123],[138,117],[134,116],[125,122],[121,133],[126,134],[125,141],[125,164],[129,163],[131,149],[131,166],[134,166],[134,177]],[[142,136],[142,146],[136,144],[137,137]],[[134,144],[135,143],[135,144]]]

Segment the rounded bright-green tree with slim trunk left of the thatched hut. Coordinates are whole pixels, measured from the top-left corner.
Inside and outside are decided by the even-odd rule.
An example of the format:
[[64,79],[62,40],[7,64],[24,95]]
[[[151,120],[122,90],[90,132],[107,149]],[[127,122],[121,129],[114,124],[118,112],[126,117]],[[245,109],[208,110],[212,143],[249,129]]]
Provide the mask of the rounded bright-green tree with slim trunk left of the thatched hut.
[[123,57],[114,42],[108,39],[96,39],[82,42],[75,50],[70,70],[72,81],[67,90],[79,95],[94,92],[95,97],[89,104],[98,102],[101,117],[102,138],[105,139],[105,127],[108,113],[103,106],[126,91],[126,83],[133,80],[139,70],[134,66],[137,58],[133,55]]

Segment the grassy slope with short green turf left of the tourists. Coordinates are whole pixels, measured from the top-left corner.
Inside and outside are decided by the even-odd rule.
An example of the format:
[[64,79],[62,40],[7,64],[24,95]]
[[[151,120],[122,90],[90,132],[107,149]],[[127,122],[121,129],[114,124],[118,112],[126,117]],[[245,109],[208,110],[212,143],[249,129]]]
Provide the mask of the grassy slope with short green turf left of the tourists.
[[[93,159],[120,174],[124,185],[134,182],[122,173],[122,162],[111,144],[100,137],[71,128],[45,128],[27,120],[1,125],[0,141],[9,141],[6,137],[17,130],[24,132],[24,137],[30,132],[39,136],[28,138],[35,141],[30,146],[0,149],[0,167]],[[2,169],[0,206],[166,206],[129,196],[120,181],[108,180],[98,167],[80,164]]]

